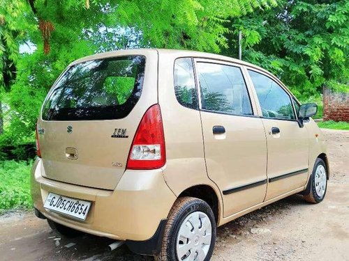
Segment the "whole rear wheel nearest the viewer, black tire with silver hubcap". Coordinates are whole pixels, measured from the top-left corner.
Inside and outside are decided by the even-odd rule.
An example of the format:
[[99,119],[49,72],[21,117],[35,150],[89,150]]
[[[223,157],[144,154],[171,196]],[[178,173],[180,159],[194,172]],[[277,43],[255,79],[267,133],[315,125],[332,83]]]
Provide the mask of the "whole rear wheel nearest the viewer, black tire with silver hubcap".
[[165,227],[161,253],[156,260],[207,261],[216,242],[216,221],[211,207],[198,198],[179,198]]

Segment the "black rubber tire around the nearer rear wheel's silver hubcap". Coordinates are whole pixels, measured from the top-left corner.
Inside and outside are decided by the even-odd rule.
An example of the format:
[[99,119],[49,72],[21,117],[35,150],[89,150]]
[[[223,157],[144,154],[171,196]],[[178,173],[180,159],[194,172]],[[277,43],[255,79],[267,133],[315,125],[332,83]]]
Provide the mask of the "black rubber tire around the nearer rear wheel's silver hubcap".
[[211,222],[211,244],[209,245],[205,261],[210,260],[216,242],[216,221],[214,219],[214,213],[204,200],[192,197],[178,198],[172,206],[170,214],[168,215],[168,223],[165,226],[161,252],[155,257],[155,260],[180,261],[177,258],[177,235],[183,221],[194,212],[205,213]]

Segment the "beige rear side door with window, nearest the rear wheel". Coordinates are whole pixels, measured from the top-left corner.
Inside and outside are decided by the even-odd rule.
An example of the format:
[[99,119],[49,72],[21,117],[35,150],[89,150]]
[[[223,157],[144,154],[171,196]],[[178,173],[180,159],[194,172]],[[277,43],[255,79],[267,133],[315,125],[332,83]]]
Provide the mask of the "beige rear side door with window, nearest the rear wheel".
[[223,194],[223,216],[262,203],[267,143],[239,65],[195,59],[207,174]]

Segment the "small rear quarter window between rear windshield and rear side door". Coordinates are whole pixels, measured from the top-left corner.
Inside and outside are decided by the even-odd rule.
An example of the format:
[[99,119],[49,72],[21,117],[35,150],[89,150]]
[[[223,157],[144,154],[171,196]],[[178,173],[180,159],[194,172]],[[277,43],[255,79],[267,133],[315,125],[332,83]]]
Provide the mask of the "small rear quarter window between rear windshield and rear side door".
[[191,58],[178,58],[174,62],[174,92],[180,104],[198,109],[198,95]]

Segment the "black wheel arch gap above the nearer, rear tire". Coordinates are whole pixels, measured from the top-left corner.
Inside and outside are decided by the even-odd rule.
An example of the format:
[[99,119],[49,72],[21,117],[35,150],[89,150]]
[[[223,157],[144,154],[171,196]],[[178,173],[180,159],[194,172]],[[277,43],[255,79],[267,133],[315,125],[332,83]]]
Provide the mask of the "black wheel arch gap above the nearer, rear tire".
[[204,200],[211,207],[212,212],[214,212],[214,218],[216,219],[216,224],[218,224],[221,214],[221,203],[213,187],[207,184],[194,185],[182,191],[179,194],[178,198],[184,196],[190,196]]

